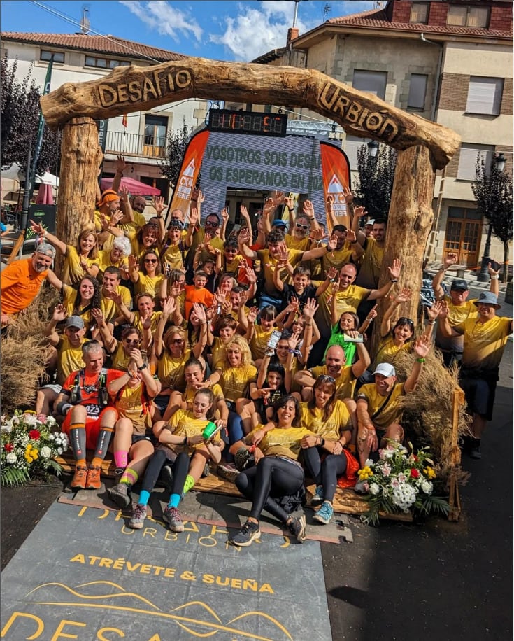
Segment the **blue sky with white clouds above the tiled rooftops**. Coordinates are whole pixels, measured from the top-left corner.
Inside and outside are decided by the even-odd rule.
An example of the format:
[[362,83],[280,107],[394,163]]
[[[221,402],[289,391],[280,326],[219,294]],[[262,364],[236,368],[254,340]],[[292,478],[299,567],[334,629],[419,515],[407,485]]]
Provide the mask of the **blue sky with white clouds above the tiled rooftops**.
[[[365,0],[171,1],[2,0],[1,31],[73,34],[87,9],[90,33],[112,35],[187,56],[249,62],[285,46],[294,7],[300,34],[331,17],[359,13]],[[385,2],[383,2],[385,4]]]

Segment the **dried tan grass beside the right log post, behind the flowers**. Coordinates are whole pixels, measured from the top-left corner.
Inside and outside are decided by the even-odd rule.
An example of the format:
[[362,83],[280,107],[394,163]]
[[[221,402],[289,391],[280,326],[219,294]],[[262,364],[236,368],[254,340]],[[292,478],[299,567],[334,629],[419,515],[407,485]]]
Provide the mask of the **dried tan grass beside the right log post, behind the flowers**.
[[[401,350],[394,360],[394,367],[400,381],[405,381],[410,374],[415,355]],[[469,474],[462,467],[455,467],[452,459],[453,426],[452,400],[453,390],[459,386],[457,368],[446,369],[443,359],[437,350],[427,354],[417,390],[406,394],[399,400],[403,410],[402,425],[406,439],[416,446],[429,446],[436,464],[438,479],[448,486],[450,474],[459,484],[464,484]],[[458,437],[471,435],[469,425],[471,416],[459,408]]]

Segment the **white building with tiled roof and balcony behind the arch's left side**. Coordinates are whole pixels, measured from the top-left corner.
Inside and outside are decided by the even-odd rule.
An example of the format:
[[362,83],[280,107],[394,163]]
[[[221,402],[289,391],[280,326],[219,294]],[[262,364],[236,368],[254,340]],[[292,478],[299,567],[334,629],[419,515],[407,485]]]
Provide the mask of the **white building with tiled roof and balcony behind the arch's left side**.
[[[2,33],[1,55],[17,60],[17,76],[31,71],[43,87],[50,58],[54,57],[50,90],[64,83],[83,83],[107,76],[117,66],[151,66],[185,58],[184,55],[148,45],[115,38],[78,34]],[[147,112],[111,118],[107,122],[103,176],[115,174],[115,160],[122,154],[128,164],[125,175],[161,190],[166,200],[171,195],[169,182],[162,176],[159,162],[166,157],[169,132],[204,123],[206,102],[190,99],[180,104],[160,106]],[[53,168],[50,168],[53,169]]]

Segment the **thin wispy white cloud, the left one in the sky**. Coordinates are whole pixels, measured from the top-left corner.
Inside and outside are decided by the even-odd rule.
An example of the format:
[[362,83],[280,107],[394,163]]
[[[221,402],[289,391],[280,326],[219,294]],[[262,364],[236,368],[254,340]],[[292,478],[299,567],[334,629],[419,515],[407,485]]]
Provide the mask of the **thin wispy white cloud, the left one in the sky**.
[[180,42],[181,38],[193,36],[201,40],[203,29],[197,20],[187,10],[180,10],[171,6],[164,0],[150,0],[149,2],[134,2],[133,0],[119,0],[120,4],[134,13],[141,22],[155,29],[162,36],[170,36],[174,41]]

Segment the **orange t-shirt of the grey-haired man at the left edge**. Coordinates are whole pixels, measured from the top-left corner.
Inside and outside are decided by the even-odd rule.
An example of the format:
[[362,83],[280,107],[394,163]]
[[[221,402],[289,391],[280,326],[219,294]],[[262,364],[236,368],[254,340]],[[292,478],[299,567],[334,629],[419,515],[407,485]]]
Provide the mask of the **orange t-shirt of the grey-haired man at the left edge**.
[[36,298],[48,275],[48,269],[38,274],[32,267],[32,258],[15,260],[3,269],[0,279],[0,304],[3,314],[17,314]]

